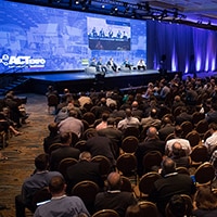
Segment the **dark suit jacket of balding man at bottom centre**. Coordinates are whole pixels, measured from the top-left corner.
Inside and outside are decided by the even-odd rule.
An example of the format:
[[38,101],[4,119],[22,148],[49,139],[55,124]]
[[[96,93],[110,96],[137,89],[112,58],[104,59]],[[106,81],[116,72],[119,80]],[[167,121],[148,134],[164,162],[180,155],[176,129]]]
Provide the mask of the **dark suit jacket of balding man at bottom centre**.
[[125,212],[129,205],[137,204],[137,200],[130,192],[108,191],[100,192],[95,196],[95,210],[111,208],[116,210],[120,217],[125,216]]

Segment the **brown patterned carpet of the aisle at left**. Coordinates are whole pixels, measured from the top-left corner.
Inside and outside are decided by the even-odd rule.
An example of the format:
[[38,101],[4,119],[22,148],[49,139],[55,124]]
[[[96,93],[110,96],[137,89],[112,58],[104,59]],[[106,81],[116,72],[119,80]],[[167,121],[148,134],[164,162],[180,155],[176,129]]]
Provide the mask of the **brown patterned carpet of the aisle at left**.
[[[54,116],[48,114],[47,98],[38,94],[22,94],[27,97],[26,110],[30,113],[29,124],[20,129],[23,135],[12,137],[9,145],[1,150],[8,156],[7,161],[0,161],[0,204],[7,209],[0,210],[0,216],[14,217],[14,197],[21,192],[24,179],[34,170],[34,158],[43,152],[42,140],[49,133],[47,126]],[[26,212],[26,216],[33,214]]]

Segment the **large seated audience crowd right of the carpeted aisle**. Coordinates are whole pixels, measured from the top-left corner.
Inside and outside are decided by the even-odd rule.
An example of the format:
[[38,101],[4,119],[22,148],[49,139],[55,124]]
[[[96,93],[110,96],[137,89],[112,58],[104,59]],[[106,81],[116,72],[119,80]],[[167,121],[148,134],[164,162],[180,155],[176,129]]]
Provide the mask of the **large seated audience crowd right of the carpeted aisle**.
[[[24,181],[22,193],[16,196],[17,217],[25,216],[25,207],[36,217],[91,216],[101,209],[114,209],[120,217],[144,216],[140,206],[143,197],[137,195],[136,189],[148,173],[161,175],[145,197],[156,205],[158,216],[184,216],[187,205],[181,205],[184,203],[180,199],[182,194],[192,199],[192,216],[217,215],[217,195],[213,184],[216,178],[200,186],[194,177],[195,170],[205,162],[209,162],[214,171],[217,168],[215,77],[202,79],[189,76],[182,80],[175,75],[171,80],[156,80],[146,87],[100,92],[74,93],[65,88],[60,93],[50,86],[46,95],[48,99],[55,95],[59,103],[53,107],[53,123],[48,123],[44,153],[36,157],[36,170]],[[189,131],[183,125],[186,122],[191,124]],[[197,131],[201,123],[205,123],[206,127]],[[195,146],[188,139],[192,132],[200,136]],[[123,176],[127,175],[118,169],[117,164],[119,156],[126,154],[122,149],[123,141],[130,137],[138,141],[136,150],[130,153],[137,159],[136,178],[128,176],[131,191],[124,191]],[[78,145],[81,142],[82,145]],[[52,149],[56,143],[59,146]],[[129,142],[129,145],[132,144]],[[207,156],[195,167],[191,154],[196,146],[205,146]],[[162,161],[148,168],[143,159],[153,152],[159,153]],[[110,169],[106,176],[102,176],[102,164],[92,161],[95,156],[107,159]],[[63,174],[60,164],[68,157],[77,163],[68,166]],[[189,174],[178,173],[178,167],[184,167]],[[85,180],[98,186],[91,205],[73,193],[74,188]],[[33,206],[35,193],[44,187],[50,189],[51,201]],[[177,204],[182,207],[179,212]],[[137,214],[130,214],[133,210]]]

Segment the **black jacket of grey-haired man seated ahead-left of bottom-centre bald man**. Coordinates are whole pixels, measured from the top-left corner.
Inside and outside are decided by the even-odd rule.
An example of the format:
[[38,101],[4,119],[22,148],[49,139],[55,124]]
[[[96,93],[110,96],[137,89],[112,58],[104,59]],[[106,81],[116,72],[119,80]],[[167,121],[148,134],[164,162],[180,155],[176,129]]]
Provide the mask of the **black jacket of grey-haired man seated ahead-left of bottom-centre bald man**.
[[95,182],[101,189],[104,187],[104,181],[100,175],[100,167],[98,163],[81,161],[69,166],[66,170],[67,175],[67,192],[71,193],[73,187],[84,180]]

